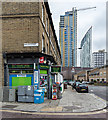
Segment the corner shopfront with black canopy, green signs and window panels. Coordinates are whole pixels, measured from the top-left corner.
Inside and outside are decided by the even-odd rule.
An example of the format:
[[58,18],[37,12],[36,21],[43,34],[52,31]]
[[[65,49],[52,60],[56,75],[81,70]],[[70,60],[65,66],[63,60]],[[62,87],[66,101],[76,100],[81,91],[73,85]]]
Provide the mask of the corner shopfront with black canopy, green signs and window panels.
[[[41,56],[46,59],[46,64],[39,63]],[[4,86],[17,88],[17,86],[34,85],[37,75],[39,87],[47,89],[47,97],[50,99],[51,85],[54,80],[52,80],[49,63],[55,63],[53,57],[44,54],[10,53],[4,55]]]

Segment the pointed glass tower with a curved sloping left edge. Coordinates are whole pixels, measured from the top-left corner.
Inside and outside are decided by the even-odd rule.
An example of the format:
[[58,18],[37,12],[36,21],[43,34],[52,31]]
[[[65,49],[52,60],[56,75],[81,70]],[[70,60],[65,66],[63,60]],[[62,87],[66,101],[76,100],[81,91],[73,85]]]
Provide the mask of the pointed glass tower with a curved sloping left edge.
[[92,64],[92,27],[87,31],[81,41],[80,66],[91,67]]

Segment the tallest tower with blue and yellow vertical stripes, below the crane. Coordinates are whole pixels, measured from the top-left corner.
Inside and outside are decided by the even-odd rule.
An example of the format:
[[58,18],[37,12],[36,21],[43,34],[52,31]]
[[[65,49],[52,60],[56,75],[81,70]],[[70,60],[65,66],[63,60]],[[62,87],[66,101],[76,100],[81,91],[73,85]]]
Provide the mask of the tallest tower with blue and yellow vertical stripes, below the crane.
[[59,42],[63,67],[77,66],[77,10],[60,16]]

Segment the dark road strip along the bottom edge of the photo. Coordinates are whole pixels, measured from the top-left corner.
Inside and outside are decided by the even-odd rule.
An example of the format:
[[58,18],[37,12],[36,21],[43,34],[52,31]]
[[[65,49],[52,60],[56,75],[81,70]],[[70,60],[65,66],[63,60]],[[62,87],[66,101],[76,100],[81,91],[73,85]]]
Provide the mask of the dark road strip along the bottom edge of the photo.
[[[67,114],[67,115],[66,115]],[[106,113],[98,113],[98,114],[85,114],[85,115],[49,115],[48,113],[42,114],[35,114],[35,113],[20,113],[20,111],[16,112],[2,112],[2,118],[12,118],[12,120],[30,120],[30,118],[35,118],[35,120],[107,120]],[[17,118],[17,119],[16,119]],[[3,119],[2,119],[3,120]],[[8,119],[4,119],[8,120]],[[11,120],[11,119],[9,119]]]

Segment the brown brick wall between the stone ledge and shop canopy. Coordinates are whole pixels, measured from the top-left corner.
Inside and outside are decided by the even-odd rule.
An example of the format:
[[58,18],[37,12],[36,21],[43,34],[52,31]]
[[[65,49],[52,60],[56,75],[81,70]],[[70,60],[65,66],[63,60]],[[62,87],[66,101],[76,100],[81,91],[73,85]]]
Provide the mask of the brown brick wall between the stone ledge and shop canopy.
[[38,19],[36,17],[4,18],[3,52],[37,52],[38,47],[24,47],[24,43],[38,43]]

